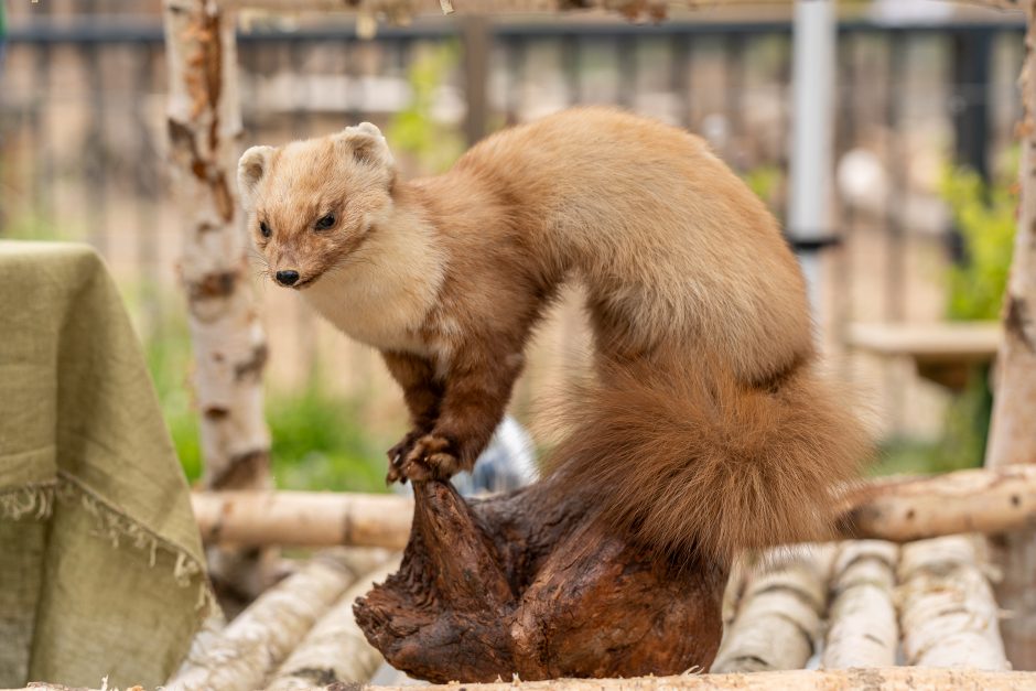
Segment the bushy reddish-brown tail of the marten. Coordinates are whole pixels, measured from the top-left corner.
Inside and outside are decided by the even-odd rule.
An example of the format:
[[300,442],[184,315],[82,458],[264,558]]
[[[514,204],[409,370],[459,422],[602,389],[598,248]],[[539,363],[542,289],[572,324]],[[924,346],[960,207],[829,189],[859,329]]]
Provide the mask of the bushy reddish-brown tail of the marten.
[[837,388],[808,366],[768,389],[715,367],[645,370],[616,366],[579,387],[547,464],[564,486],[678,560],[832,535],[832,490],[867,449]]

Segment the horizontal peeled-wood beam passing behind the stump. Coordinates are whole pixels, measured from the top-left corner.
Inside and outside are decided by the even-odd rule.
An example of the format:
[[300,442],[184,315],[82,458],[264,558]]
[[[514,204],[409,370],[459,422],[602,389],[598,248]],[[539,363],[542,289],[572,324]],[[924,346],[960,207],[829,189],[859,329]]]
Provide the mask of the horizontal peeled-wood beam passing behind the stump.
[[[411,499],[392,495],[196,492],[192,503],[207,543],[251,546],[399,549],[413,514]],[[845,499],[839,537],[909,542],[1034,523],[1036,467],[1012,466],[862,484]]]

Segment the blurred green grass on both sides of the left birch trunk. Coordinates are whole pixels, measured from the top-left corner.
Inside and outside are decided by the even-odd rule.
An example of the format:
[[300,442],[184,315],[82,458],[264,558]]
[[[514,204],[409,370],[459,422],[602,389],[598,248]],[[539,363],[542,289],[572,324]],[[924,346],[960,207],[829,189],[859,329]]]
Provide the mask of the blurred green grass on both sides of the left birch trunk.
[[[183,321],[165,323],[145,346],[173,444],[187,478],[202,473],[197,409],[188,373],[191,341]],[[269,391],[267,421],[272,438],[272,471],[278,487],[385,492],[381,440],[369,435],[359,406],[327,391],[313,377],[298,391]]]

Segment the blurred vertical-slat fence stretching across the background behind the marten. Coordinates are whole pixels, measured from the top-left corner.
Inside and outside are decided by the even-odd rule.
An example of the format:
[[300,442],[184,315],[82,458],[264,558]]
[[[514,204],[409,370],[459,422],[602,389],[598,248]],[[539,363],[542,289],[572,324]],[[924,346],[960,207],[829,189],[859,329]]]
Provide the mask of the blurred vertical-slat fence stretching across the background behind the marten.
[[[571,105],[617,104],[702,133],[783,214],[791,64],[791,29],[783,22],[468,19],[382,30],[371,41],[357,40],[350,25],[253,25],[239,42],[242,144],[359,119],[391,125],[422,88],[414,66],[442,45],[456,46],[455,60],[432,75],[418,115],[460,141]],[[939,270],[952,257],[953,235],[939,179],[954,159],[989,175],[1008,155],[1022,26],[845,23],[838,55],[835,229],[843,244],[829,253],[822,284],[835,347],[852,320],[941,316]],[[164,164],[164,93],[158,23],[78,18],[9,35],[0,235],[97,246],[144,334],[161,333],[179,304],[166,299],[175,294],[179,235]],[[408,160],[419,172],[421,156]],[[373,356],[326,334],[283,292],[260,290],[276,380],[331,363],[355,391],[381,381],[370,379],[380,377],[370,374]],[[562,307],[544,349],[576,339],[578,318],[578,310]],[[536,386],[527,384],[519,402]],[[910,407],[902,397],[899,404]]]

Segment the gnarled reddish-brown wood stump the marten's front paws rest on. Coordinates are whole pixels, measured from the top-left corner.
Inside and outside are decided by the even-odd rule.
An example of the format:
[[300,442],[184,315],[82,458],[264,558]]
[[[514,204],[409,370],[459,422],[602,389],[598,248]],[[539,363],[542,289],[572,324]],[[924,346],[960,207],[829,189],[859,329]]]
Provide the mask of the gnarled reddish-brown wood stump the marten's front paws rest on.
[[416,483],[402,564],[354,606],[367,639],[438,683],[708,669],[726,565],[654,558],[564,487],[554,475],[468,505]]

